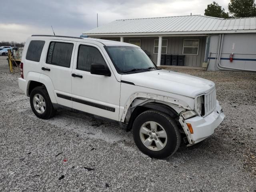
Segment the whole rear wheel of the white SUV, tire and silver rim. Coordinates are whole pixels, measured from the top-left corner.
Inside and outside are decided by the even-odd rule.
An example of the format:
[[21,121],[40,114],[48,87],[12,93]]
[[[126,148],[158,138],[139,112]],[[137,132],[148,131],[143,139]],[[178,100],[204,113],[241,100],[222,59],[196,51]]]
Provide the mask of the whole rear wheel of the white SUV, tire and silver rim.
[[36,87],[30,94],[30,106],[34,114],[42,119],[48,119],[54,116],[54,108],[50,96],[43,86]]

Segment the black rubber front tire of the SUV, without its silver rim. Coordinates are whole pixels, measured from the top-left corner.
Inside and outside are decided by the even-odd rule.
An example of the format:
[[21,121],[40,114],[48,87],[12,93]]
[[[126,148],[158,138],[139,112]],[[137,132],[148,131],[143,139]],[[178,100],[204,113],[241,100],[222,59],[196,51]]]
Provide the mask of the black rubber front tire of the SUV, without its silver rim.
[[[161,150],[155,151],[147,148],[140,139],[140,128],[144,123],[149,121],[160,124],[166,132],[167,142],[164,148],[162,148]],[[153,158],[167,158],[168,156],[173,155],[180,147],[181,135],[176,123],[167,114],[156,110],[147,110],[141,113],[134,121],[134,124],[132,126],[132,132],[136,146],[144,154]]]

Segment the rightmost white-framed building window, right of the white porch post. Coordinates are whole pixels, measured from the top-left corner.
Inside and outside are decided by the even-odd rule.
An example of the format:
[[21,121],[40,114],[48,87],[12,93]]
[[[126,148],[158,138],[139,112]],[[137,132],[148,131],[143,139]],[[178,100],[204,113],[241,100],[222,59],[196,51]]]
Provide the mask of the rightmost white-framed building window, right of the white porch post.
[[199,39],[184,39],[183,54],[198,55]]

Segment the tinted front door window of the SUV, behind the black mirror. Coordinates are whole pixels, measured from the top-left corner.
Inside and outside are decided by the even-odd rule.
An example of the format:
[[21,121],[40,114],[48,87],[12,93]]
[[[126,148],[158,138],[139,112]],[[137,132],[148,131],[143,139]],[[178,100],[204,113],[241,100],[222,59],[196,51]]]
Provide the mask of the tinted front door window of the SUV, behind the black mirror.
[[104,64],[106,66],[106,62],[97,48],[80,45],[78,51],[77,69],[90,71],[91,64]]

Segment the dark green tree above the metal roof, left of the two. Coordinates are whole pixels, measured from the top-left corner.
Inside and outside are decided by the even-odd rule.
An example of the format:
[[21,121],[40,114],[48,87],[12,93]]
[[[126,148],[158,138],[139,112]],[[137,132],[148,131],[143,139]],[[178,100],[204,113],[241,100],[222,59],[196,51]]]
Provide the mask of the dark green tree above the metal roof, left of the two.
[[207,5],[207,9],[204,10],[204,15],[218,18],[229,18],[228,13],[224,8],[218,5],[215,1]]

